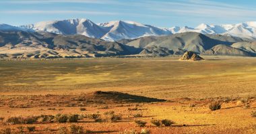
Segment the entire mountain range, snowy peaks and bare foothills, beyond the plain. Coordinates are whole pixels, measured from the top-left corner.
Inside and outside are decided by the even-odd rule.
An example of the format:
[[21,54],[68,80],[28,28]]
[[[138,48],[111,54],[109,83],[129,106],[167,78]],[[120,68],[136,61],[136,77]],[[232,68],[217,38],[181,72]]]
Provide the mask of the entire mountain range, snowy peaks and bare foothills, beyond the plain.
[[134,21],[89,19],[0,24],[0,58],[86,58],[102,56],[256,56],[256,24],[161,28]]

